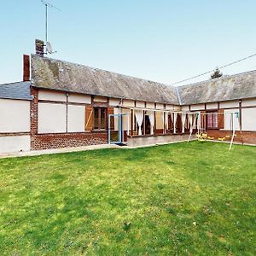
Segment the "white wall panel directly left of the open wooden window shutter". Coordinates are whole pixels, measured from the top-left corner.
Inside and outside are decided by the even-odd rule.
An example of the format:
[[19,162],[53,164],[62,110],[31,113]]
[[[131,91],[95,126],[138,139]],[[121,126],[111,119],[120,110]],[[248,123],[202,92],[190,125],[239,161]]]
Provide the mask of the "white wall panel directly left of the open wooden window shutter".
[[85,107],[67,106],[67,132],[85,131]]

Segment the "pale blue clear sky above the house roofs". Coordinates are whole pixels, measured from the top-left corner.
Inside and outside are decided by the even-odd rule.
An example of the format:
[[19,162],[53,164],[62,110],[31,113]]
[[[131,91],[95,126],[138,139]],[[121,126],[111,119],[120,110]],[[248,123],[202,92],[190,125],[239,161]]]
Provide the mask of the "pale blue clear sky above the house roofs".
[[[49,9],[49,57],[63,61],[173,84],[256,53],[255,0],[47,1],[61,9]],[[40,0],[1,3],[0,84],[22,79],[44,15]],[[253,69],[256,56],[222,72]]]

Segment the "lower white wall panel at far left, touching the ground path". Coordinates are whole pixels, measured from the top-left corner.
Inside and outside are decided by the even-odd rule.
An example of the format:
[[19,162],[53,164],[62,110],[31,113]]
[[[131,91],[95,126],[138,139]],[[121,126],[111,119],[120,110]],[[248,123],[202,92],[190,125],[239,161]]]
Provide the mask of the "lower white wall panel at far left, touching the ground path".
[[0,154],[30,150],[30,136],[0,137]]

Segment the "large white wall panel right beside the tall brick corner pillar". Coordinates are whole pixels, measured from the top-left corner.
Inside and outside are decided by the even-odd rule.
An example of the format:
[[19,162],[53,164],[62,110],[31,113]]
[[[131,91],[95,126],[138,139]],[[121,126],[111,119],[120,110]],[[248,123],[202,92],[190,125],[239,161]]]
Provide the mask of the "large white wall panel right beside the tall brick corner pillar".
[[66,105],[38,103],[38,133],[66,132]]

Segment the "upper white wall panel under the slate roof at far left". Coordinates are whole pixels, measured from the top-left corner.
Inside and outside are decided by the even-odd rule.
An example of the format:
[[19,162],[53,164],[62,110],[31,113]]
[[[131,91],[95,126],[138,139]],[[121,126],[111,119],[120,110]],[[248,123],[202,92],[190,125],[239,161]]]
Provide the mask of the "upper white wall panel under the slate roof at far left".
[[0,132],[30,131],[30,102],[0,99]]

